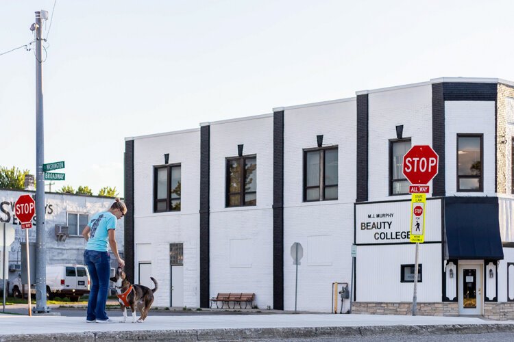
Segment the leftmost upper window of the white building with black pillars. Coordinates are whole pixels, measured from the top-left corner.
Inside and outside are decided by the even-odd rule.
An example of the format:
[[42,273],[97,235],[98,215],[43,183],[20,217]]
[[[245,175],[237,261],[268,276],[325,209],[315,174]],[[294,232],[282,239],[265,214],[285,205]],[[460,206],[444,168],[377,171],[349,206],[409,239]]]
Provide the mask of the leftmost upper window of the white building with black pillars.
[[154,168],[154,213],[180,211],[180,164]]

